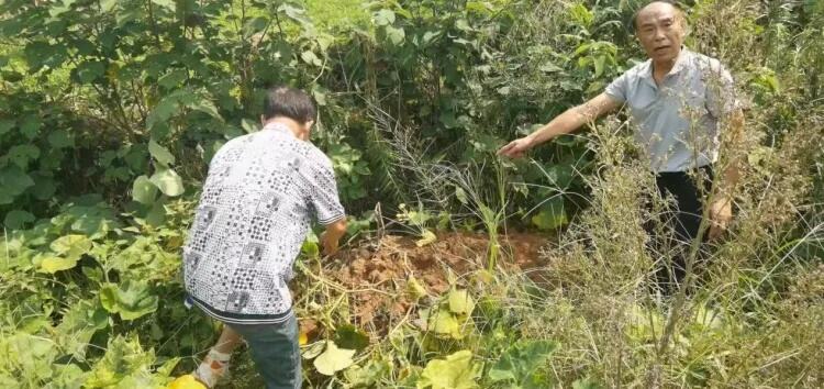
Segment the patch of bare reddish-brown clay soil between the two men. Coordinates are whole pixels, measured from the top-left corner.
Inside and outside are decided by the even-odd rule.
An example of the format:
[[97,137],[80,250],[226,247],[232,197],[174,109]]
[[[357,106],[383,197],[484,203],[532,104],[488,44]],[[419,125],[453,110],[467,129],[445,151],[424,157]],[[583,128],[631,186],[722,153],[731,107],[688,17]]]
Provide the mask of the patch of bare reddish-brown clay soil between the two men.
[[[511,270],[536,268],[546,235],[511,233],[501,236],[499,265]],[[387,326],[413,305],[404,293],[407,280],[414,277],[431,296],[449,288],[448,273],[460,278],[487,266],[488,236],[444,233],[423,247],[416,238],[389,235],[366,241],[338,254],[339,260],[324,269],[324,276],[349,290],[353,324],[370,332],[385,333]],[[390,293],[390,296],[388,296]],[[302,323],[307,332],[314,323]]]

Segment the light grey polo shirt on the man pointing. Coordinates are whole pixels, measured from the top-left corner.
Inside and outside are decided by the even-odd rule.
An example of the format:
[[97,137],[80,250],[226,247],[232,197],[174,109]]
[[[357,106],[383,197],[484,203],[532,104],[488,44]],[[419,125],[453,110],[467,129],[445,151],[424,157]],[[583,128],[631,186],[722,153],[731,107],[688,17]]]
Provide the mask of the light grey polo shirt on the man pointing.
[[635,138],[656,173],[714,163],[719,122],[737,107],[730,73],[717,59],[687,48],[660,86],[649,59],[612,81],[605,92],[628,108],[637,127]]

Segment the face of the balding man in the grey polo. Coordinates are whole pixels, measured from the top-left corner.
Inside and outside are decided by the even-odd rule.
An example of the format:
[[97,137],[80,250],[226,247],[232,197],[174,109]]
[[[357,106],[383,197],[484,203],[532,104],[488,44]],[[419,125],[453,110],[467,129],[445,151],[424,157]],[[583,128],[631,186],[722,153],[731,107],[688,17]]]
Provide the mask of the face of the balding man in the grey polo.
[[667,3],[652,3],[635,20],[635,35],[654,62],[675,60],[681,52],[684,22],[678,9]]

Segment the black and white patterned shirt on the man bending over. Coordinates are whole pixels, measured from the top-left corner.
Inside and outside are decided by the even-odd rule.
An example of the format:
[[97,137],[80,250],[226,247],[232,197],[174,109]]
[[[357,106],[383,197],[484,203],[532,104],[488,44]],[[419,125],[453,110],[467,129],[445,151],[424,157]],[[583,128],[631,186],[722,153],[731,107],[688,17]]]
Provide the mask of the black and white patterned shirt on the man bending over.
[[278,323],[291,313],[287,282],[311,218],[345,216],[332,162],[282,124],[236,137],[209,166],[183,247],[192,302],[230,323]]

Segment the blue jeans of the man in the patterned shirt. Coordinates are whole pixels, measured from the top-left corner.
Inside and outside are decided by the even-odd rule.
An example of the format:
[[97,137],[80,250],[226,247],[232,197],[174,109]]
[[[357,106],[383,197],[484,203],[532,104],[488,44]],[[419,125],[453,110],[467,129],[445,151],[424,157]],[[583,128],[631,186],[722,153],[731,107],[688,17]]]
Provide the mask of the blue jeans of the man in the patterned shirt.
[[266,389],[300,389],[300,345],[294,314],[277,324],[229,324],[249,345]]

